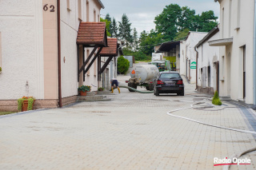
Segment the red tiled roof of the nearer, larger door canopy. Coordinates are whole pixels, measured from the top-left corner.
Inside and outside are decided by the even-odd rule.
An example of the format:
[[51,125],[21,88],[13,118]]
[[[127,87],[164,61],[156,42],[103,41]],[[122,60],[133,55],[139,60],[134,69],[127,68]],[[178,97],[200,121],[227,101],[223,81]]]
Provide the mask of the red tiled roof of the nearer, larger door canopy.
[[81,22],[77,44],[106,46],[106,22]]

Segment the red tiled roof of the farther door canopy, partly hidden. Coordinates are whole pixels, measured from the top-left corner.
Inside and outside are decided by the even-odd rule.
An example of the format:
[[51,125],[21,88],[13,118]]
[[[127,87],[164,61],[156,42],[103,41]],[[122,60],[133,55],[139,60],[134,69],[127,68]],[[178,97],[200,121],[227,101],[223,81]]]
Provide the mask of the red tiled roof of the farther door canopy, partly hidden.
[[107,38],[107,47],[103,47],[101,53],[102,57],[118,56],[118,39],[117,38]]

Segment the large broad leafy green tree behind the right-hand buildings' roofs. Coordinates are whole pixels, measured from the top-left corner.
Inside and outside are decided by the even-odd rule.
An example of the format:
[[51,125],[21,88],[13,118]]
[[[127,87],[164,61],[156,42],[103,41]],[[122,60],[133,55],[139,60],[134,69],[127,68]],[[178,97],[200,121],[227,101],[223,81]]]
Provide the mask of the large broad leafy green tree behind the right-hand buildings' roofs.
[[164,34],[163,38],[167,42],[176,38],[178,32],[182,31],[183,34],[183,30],[186,29],[208,32],[217,26],[217,18],[212,10],[196,15],[195,10],[190,10],[188,6],[180,7],[177,4],[170,4],[154,18],[154,23],[156,31]]

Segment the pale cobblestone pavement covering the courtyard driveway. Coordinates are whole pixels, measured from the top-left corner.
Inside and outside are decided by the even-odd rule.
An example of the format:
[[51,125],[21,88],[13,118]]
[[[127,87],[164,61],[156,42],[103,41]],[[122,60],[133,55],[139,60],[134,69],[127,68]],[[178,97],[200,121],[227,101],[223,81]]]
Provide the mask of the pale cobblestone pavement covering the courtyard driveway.
[[[119,76],[124,84],[129,77]],[[138,88],[139,89],[139,88]],[[145,90],[146,89],[142,89]],[[250,133],[171,117],[170,110],[211,106],[209,96],[186,83],[185,97],[114,90],[112,101],[81,102],[64,109],[0,117],[0,169],[222,169],[223,159],[256,146]],[[228,108],[226,108],[228,107]],[[244,109],[244,108],[242,108]],[[173,114],[213,125],[254,130],[238,105],[184,109]],[[230,169],[256,169],[250,165]]]

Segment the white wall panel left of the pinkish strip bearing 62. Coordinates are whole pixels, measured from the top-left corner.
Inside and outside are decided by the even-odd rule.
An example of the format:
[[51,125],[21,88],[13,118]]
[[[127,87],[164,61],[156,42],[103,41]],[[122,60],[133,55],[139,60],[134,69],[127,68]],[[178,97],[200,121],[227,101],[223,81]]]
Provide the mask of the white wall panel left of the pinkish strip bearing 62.
[[0,100],[43,99],[42,0],[0,1],[0,32]]

